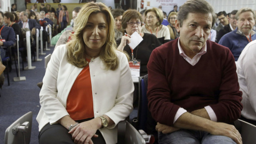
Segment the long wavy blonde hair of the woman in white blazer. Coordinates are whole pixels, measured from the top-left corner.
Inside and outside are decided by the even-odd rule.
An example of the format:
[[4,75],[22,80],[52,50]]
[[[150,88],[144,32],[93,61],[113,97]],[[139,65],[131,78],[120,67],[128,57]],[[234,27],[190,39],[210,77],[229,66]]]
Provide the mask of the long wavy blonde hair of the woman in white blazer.
[[99,57],[105,63],[106,69],[115,70],[119,60],[116,55],[116,42],[114,30],[114,18],[106,5],[103,3],[84,4],[75,19],[74,34],[71,34],[71,41],[67,43],[67,60],[72,65],[83,68],[88,65],[85,59],[85,43],[83,39],[84,28],[89,16],[93,13],[103,13],[106,15],[108,23],[108,34],[105,44],[102,46]]

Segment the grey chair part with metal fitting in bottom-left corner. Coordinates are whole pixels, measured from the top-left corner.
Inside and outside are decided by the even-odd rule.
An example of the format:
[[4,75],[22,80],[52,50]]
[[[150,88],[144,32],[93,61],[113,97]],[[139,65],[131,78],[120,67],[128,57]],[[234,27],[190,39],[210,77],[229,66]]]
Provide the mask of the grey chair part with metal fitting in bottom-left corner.
[[[32,127],[32,112],[21,116],[5,131],[5,144],[29,144]],[[23,131],[23,132],[22,132]]]

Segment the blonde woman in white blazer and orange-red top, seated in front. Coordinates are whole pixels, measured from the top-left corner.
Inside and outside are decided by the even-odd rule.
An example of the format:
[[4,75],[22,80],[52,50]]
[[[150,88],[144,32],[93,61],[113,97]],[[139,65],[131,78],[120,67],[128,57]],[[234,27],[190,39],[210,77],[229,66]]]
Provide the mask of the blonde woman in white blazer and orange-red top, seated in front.
[[[114,19],[106,5],[85,4],[75,21],[71,41],[54,50],[43,78],[39,143],[116,143],[116,124],[133,109],[128,60],[116,50]],[[89,80],[79,83],[83,76]],[[77,107],[82,112],[74,111]],[[93,116],[77,118],[87,113]]]

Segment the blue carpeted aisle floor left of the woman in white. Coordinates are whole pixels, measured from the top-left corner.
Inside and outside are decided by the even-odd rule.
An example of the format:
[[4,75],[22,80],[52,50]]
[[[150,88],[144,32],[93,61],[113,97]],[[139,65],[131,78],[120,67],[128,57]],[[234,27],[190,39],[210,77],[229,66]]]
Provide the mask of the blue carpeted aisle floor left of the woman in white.
[[[53,52],[54,47],[44,53],[50,54]],[[10,86],[7,84],[7,75],[4,72],[5,82],[0,90],[0,143],[4,143],[4,136],[6,128],[11,125],[20,116],[26,114],[28,111],[33,112],[32,132],[30,143],[38,143],[38,123],[36,122],[36,116],[40,109],[39,105],[39,92],[40,89],[36,85],[38,82],[42,82],[45,74],[44,57],[46,55],[39,55],[39,59],[42,61],[33,61],[31,66],[35,66],[35,69],[22,70],[20,63],[20,76],[25,76],[26,81],[14,82],[13,77],[17,77],[15,71],[15,65],[13,62],[12,71],[10,74]],[[28,63],[25,63],[25,67]]]

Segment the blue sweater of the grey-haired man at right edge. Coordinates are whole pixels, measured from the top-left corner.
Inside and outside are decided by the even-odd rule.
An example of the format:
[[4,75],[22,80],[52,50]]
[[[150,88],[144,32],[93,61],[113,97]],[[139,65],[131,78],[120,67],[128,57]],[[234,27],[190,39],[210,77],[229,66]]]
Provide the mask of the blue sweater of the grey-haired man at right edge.
[[[251,37],[252,41],[255,40],[256,34],[253,34]],[[244,35],[239,34],[237,28],[230,33],[222,36],[219,41],[220,45],[226,46],[230,49],[230,51],[234,55],[235,61],[238,60],[241,52],[248,43],[248,39]]]

